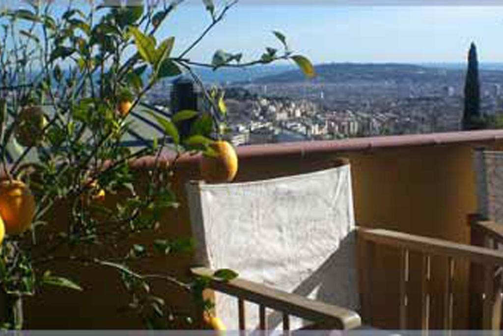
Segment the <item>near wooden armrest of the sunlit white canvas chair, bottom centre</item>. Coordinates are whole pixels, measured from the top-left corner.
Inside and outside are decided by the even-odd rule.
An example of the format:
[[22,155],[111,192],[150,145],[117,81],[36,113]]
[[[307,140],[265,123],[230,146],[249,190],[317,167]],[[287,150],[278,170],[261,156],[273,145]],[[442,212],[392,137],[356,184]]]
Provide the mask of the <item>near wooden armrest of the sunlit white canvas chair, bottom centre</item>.
[[195,276],[210,278],[210,288],[216,291],[289,315],[320,322],[324,327],[353,329],[361,325],[360,315],[350,309],[315,301],[241,278],[226,282],[219,281],[213,277],[214,271],[206,267],[192,268],[191,272]]

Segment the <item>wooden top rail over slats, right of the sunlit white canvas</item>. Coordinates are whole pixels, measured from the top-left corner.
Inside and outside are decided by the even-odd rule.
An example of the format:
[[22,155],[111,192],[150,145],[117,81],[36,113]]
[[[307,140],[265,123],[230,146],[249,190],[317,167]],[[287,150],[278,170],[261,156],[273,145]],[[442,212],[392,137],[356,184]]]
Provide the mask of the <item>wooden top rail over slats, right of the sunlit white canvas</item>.
[[429,238],[384,229],[359,227],[357,231],[363,239],[379,244],[453,258],[468,258],[471,261],[482,264],[503,265],[503,252],[485,247],[454,243],[444,239]]

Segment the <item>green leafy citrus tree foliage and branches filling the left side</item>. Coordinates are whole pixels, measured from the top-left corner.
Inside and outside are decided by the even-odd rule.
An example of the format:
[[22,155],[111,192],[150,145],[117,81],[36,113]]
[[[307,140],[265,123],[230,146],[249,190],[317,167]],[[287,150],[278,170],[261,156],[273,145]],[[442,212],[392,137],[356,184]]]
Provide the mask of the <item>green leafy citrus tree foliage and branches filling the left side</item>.
[[[158,237],[140,245],[129,239],[163,225],[163,211],[178,206],[171,189],[177,160],[193,151],[211,155],[209,145],[225,128],[221,125],[226,116],[223,91],[205,88],[194,68],[241,68],[292,59],[306,76],[314,76],[314,71],[307,58],[292,53],[278,31],[273,34],[283,51],[267,47],[257,60],[242,62],[242,53],[223,49],[215,52],[211,63],[188,58],[235,2],[218,10],[211,0],[204,0],[210,15],[207,29],[174,55],[176,38],[157,33],[181,2],[135,1],[134,6],[126,2],[121,7],[70,2],[60,13],[53,10],[53,2],[29,1],[22,9],[0,13],[0,159],[4,177],[26,182],[37,203],[31,230],[8,236],[2,243],[3,292],[36,295],[46,285],[86,290],[77,279],[52,275],[50,265],[55,260],[111,267],[131,294],[128,308],[136,310],[149,327],[167,327],[173,313],[151,293],[148,282],[164,279],[189,291],[201,288],[200,280],[186,284],[132,270],[135,260],[190,250],[189,241]],[[201,87],[205,111],[179,111],[170,118],[144,102],[155,84],[181,74]],[[159,139],[139,149],[122,145],[133,124],[117,112],[124,100],[137,113],[153,116],[162,130]],[[47,123],[40,126],[41,141],[23,147],[16,140],[18,117],[23,108],[34,105],[43,107]],[[194,116],[191,137],[182,141],[179,122]],[[166,150],[174,153],[168,168],[160,160]],[[147,155],[155,158],[155,164],[143,183],[145,190],[137,190],[131,162]],[[11,165],[9,158],[14,161]],[[105,195],[104,203],[100,195]],[[65,221],[54,219],[61,207],[68,214]],[[219,275],[235,276],[230,270]],[[16,321],[5,322],[16,325]]]

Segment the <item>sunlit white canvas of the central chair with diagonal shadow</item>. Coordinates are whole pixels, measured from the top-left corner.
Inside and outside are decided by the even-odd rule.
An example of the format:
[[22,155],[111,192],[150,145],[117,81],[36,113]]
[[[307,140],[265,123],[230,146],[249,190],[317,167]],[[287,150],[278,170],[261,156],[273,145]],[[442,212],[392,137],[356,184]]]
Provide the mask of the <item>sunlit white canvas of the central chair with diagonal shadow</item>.
[[[358,309],[350,165],[245,183],[187,185],[198,262],[267,286]],[[216,294],[216,315],[238,329],[237,300]],[[258,307],[247,303],[247,329]],[[268,327],[282,316],[268,311]],[[305,321],[304,321],[305,322]],[[304,325],[291,320],[291,327]]]

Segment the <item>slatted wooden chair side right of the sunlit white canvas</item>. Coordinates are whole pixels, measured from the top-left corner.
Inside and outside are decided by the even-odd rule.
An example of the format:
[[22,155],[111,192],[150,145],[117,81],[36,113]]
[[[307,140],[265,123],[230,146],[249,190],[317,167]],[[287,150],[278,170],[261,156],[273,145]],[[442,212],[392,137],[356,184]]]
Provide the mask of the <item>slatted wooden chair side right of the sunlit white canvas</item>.
[[[482,302],[482,329],[499,329],[501,317],[501,285],[494,281],[495,267],[503,266],[503,252],[480,246],[458,244],[442,239],[409,235],[382,229],[358,228],[358,241],[361,257],[364,264],[360,267],[360,278],[363,286],[362,316],[365,322],[372,323],[372,272],[369,269],[374,255],[375,245],[388,245],[400,250],[400,286],[399,286],[399,326],[407,328],[407,282],[409,276],[409,252],[420,252],[423,255],[422,281],[421,281],[421,326],[429,329],[431,293],[432,256],[445,257],[445,292],[443,293],[443,328],[453,328],[453,280],[454,268],[457,260],[468,260],[481,267],[483,275],[483,300]],[[472,316],[470,316],[472,318]]]

